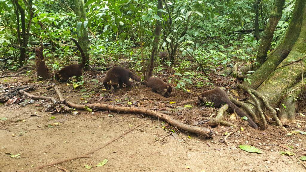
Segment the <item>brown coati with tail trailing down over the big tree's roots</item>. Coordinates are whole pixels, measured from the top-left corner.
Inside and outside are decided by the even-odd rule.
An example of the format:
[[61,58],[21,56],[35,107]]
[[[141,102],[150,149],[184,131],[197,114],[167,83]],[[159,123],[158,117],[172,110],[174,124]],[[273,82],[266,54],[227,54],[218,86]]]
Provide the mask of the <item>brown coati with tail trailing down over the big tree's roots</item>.
[[207,90],[198,95],[200,104],[203,105],[205,102],[212,102],[215,108],[221,107],[223,104],[228,104],[229,109],[236,112],[240,117],[248,117],[249,125],[253,128],[258,128],[257,124],[252,120],[252,118],[240,110],[232,101],[230,101],[229,96],[222,91],[220,88],[215,88],[212,90]]

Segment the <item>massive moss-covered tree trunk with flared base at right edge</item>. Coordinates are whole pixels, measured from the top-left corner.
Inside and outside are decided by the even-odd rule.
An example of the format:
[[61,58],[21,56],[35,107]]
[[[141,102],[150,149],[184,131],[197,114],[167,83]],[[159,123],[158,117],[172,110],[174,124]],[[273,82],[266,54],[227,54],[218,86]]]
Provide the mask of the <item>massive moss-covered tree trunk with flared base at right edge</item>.
[[[295,122],[295,109],[305,99],[306,80],[306,1],[296,0],[292,18],[282,42],[272,51],[267,61],[252,74],[251,88],[265,96],[273,108],[279,108],[278,118],[285,122]],[[247,85],[247,83],[244,83]],[[260,101],[263,108],[263,102]],[[251,104],[249,107],[258,113]],[[266,112],[270,116],[269,112]]]

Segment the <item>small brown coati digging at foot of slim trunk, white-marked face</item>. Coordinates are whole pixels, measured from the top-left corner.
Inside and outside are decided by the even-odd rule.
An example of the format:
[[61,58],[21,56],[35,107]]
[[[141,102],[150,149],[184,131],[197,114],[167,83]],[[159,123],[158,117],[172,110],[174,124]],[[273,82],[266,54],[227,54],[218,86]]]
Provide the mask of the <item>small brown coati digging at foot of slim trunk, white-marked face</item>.
[[154,92],[159,92],[164,97],[171,96],[172,87],[170,84],[165,83],[157,77],[150,77],[147,81],[147,86],[152,88]]

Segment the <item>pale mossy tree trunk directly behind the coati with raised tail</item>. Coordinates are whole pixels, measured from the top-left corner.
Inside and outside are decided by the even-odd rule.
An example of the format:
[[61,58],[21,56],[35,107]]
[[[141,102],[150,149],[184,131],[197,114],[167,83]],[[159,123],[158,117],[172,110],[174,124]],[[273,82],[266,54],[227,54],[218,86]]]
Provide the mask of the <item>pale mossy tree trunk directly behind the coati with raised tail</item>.
[[[88,55],[88,28],[87,24],[84,25],[84,22],[88,22],[86,18],[86,9],[84,8],[84,0],[75,0],[75,13],[77,17],[78,24],[81,24],[80,30],[78,32],[78,43],[86,54],[86,63],[84,70],[89,70],[89,55]],[[79,63],[82,60],[82,57],[79,58]]]

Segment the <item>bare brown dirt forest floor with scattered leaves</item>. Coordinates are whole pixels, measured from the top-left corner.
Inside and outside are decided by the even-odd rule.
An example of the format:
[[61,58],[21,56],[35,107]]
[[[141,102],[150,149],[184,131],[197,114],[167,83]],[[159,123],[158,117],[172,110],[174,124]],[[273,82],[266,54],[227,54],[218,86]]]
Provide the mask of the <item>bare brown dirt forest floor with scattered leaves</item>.
[[[105,73],[90,72],[84,75],[84,80],[91,78],[102,82]],[[159,77],[166,78],[169,70],[159,72]],[[219,85],[225,88],[234,86],[229,78],[211,75]],[[33,83],[33,77],[20,76],[2,78],[0,89],[4,91],[10,86]],[[200,120],[210,118],[216,111],[211,108],[203,108],[192,104],[192,107],[166,107],[170,101],[180,102],[196,99],[196,93],[204,88],[195,86],[187,87],[191,93],[181,90],[173,92],[172,97],[165,98],[151,91],[150,88],[133,82],[133,90],[124,88],[110,94],[108,91],[94,90],[94,82],[85,82],[82,88],[74,90],[65,83],[58,83],[58,88],[63,92],[64,98],[79,104],[107,103],[118,106],[141,106],[154,110],[173,111],[171,116],[176,120],[197,125]],[[31,94],[57,97],[54,90],[47,91],[42,87],[36,87]],[[19,96],[21,97],[21,96]],[[129,129],[144,122],[132,132],[122,136],[106,147],[93,152],[88,158],[81,158],[57,166],[70,172],[76,171],[305,171],[302,164],[297,162],[294,156],[279,155],[279,151],[291,151],[297,156],[303,156],[306,152],[306,135],[286,133],[276,126],[269,126],[267,130],[256,130],[249,127],[247,122],[237,119],[230,121],[230,114],[226,120],[233,122],[237,128],[216,126],[213,130],[217,133],[213,138],[207,139],[181,131],[181,134],[168,134],[169,127],[163,121],[132,113],[117,113],[110,111],[94,110],[92,112],[78,110],[78,114],[58,113],[50,114],[45,111],[43,103],[46,101],[34,101],[21,107],[20,103],[4,104],[0,108],[0,172],[15,172],[30,170],[37,166],[49,164],[61,159],[71,158],[91,151],[106,142],[114,139]],[[30,100],[30,99],[28,99]],[[131,102],[132,105],[129,105]],[[139,104],[138,104],[139,103]],[[41,106],[43,105],[43,106]],[[305,113],[304,113],[305,114]],[[37,116],[30,116],[37,115]],[[50,119],[51,117],[55,119]],[[213,115],[214,116],[214,115]],[[298,119],[305,121],[306,117],[299,114]],[[303,119],[304,118],[304,119]],[[13,121],[13,122],[12,122]],[[50,124],[58,122],[58,126],[50,127]],[[48,127],[49,124],[49,127]],[[198,125],[210,128],[207,124]],[[243,128],[243,131],[241,129]],[[300,124],[287,127],[288,131],[306,131],[306,125]],[[221,142],[224,133],[238,130],[229,136],[229,146]],[[157,141],[156,141],[157,140]],[[240,144],[250,144],[262,150],[261,154],[248,153],[238,148]],[[289,151],[290,152],[290,151]],[[20,154],[17,157],[12,155]],[[96,167],[99,162],[107,159],[108,162],[101,167]],[[304,163],[306,165],[306,163]],[[87,170],[84,165],[93,166]],[[50,166],[32,171],[61,171]]]

